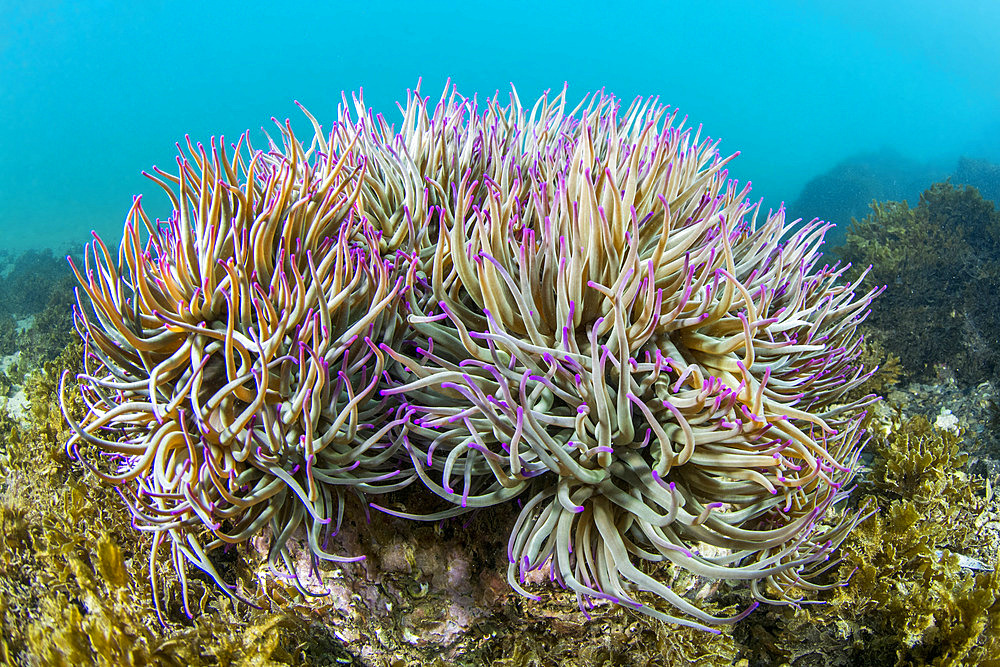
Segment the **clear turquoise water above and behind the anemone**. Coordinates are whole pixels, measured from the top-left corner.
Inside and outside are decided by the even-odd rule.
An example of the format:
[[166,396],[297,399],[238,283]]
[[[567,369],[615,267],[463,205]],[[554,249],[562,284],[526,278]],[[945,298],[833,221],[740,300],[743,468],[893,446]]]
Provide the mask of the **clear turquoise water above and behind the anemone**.
[[[900,5],[906,9],[899,9]],[[758,8],[757,5],[766,6]],[[237,8],[238,6],[238,8]],[[289,117],[341,91],[398,117],[423,78],[523,102],[569,84],[657,95],[722,149],[765,208],[858,153],[942,173],[1000,161],[1000,5],[805,2],[0,1],[0,247],[116,239],[140,172],[174,142]],[[794,215],[796,211],[792,210]],[[809,213],[822,215],[821,212]]]

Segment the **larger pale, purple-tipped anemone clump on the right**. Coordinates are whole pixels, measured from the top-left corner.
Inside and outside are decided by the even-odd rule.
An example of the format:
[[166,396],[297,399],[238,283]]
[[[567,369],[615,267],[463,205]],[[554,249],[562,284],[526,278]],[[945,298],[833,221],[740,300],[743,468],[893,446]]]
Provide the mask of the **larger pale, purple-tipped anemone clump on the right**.
[[[577,118],[564,93],[530,114],[512,96],[504,124],[470,104],[405,111],[428,143],[468,119],[451,136],[478,137],[488,168],[444,193],[405,295],[412,334],[382,345],[405,370],[383,393],[413,414],[412,465],[452,507],[381,509],[439,519],[524,496],[511,586],[530,596],[525,575],[547,568],[581,609],[706,627],[796,603],[863,514],[834,507],[874,400],[845,396],[867,377],[856,329],[875,292],[820,266],[827,225],[758,225],[727,180],[735,156],[655,100],[601,94]],[[749,580],[754,602],[713,616],[671,570]]]

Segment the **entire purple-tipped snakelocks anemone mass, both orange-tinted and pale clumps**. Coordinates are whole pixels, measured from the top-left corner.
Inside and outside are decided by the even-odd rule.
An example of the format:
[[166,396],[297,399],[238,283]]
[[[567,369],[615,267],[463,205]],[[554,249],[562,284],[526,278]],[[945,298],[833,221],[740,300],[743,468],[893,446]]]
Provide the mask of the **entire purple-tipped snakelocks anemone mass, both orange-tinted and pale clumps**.
[[[480,109],[419,89],[399,129],[344,100],[308,150],[190,145],[78,273],[90,412],[69,443],[223,584],[208,553],[270,526],[315,558],[343,494],[414,479],[439,520],[516,501],[508,580],[544,570],[691,625],[795,604],[863,510],[844,502],[862,292],[828,227],[760,214],[717,142],[657,100],[565,91]],[[146,241],[142,241],[143,234]],[[718,617],[682,571],[749,582]],[[676,608],[667,614],[660,598]],[[645,601],[644,601],[645,600]]]

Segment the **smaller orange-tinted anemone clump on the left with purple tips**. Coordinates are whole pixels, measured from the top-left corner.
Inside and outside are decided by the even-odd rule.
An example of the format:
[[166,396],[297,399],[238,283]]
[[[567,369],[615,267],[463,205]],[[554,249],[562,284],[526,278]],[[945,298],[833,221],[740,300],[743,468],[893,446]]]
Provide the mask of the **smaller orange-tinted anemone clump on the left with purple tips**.
[[223,141],[207,152],[188,141],[176,174],[147,174],[170,218],[151,222],[137,197],[118,253],[95,234],[84,270],[74,266],[89,411],[81,423],[64,411],[67,449],[153,533],[161,621],[164,538],[190,614],[188,563],[231,592],[209,552],[269,528],[269,562],[294,576],[287,546],[300,526],[314,558],[350,560],[329,545],[344,494],[412,479],[390,433],[403,412],[378,392],[406,269],[356,215],[363,162],[281,134],[267,151],[244,135],[232,155]]

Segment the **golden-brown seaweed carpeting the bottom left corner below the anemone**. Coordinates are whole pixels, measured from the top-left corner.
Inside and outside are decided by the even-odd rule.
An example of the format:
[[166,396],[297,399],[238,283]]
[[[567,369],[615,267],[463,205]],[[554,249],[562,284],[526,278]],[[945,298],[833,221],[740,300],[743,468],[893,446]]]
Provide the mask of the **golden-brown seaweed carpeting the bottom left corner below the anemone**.
[[[64,369],[80,370],[81,352],[74,343],[28,373],[24,422],[0,401],[0,664],[263,667],[319,664],[320,652],[349,657],[322,627],[261,609],[266,597],[240,570],[256,607],[237,608],[196,581],[202,613],[169,634],[149,622],[153,597],[136,557],[148,544],[114,490],[81,478],[64,452],[58,383]],[[84,404],[64,408],[79,417]]]

